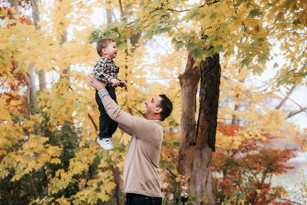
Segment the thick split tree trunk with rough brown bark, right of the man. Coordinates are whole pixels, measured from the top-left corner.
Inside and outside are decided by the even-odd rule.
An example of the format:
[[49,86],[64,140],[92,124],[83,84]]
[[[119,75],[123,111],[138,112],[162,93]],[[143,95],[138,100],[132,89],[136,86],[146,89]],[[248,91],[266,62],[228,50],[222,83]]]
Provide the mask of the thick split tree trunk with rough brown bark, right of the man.
[[[217,109],[220,93],[219,54],[208,57],[192,68],[192,50],[188,52],[188,62],[184,74],[179,75],[182,92],[181,117],[181,157],[182,167],[188,180],[189,192],[198,195],[193,204],[216,204],[214,183],[211,173],[212,151],[215,149]],[[197,84],[200,83],[200,110],[196,127],[195,104]],[[208,203],[201,198],[209,196]]]

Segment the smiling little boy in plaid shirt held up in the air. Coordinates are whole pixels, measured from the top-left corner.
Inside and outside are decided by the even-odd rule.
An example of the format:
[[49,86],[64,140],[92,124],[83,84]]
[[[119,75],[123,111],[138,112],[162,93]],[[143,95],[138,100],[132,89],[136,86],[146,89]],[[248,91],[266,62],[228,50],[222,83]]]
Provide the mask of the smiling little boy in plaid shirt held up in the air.
[[[95,77],[103,82],[107,82],[106,89],[111,98],[117,103],[115,95],[115,87],[127,87],[127,83],[117,77],[119,67],[117,67],[112,59],[116,58],[118,49],[115,41],[111,38],[103,38],[97,43],[97,52],[101,57],[94,66]],[[95,99],[100,112],[99,116],[99,134],[97,142],[103,149],[112,150],[112,134],[115,133],[118,123],[112,120],[106,113],[101,99],[96,91]]]

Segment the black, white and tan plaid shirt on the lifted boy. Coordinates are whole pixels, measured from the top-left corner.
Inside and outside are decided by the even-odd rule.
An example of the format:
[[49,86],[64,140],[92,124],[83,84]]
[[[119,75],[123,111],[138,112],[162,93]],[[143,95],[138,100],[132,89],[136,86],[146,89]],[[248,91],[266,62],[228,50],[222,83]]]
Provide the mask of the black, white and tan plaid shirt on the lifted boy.
[[[102,82],[107,82],[108,86],[114,86],[111,79],[115,78],[122,81],[117,77],[119,67],[117,67],[113,60],[106,57],[101,57],[94,66],[95,77]],[[115,86],[116,87],[116,86]]]

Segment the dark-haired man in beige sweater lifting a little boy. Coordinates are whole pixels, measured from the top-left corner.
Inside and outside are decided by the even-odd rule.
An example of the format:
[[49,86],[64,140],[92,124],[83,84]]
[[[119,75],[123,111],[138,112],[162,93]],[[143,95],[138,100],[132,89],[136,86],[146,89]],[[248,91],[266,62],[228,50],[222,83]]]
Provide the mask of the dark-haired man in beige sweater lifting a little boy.
[[132,136],[124,163],[126,205],[162,204],[159,161],[164,130],[161,121],[170,115],[173,103],[165,95],[155,96],[145,102],[144,118],[138,118],[120,109],[109,96],[106,83],[98,81],[93,74],[87,79],[98,90],[110,118]]

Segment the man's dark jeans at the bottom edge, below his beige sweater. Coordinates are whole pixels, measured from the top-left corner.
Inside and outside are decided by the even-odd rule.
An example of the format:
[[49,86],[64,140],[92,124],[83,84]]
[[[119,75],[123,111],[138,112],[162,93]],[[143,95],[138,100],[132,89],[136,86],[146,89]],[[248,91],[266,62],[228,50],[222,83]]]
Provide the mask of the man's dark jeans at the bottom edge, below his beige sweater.
[[126,193],[126,205],[161,205],[162,197]]

